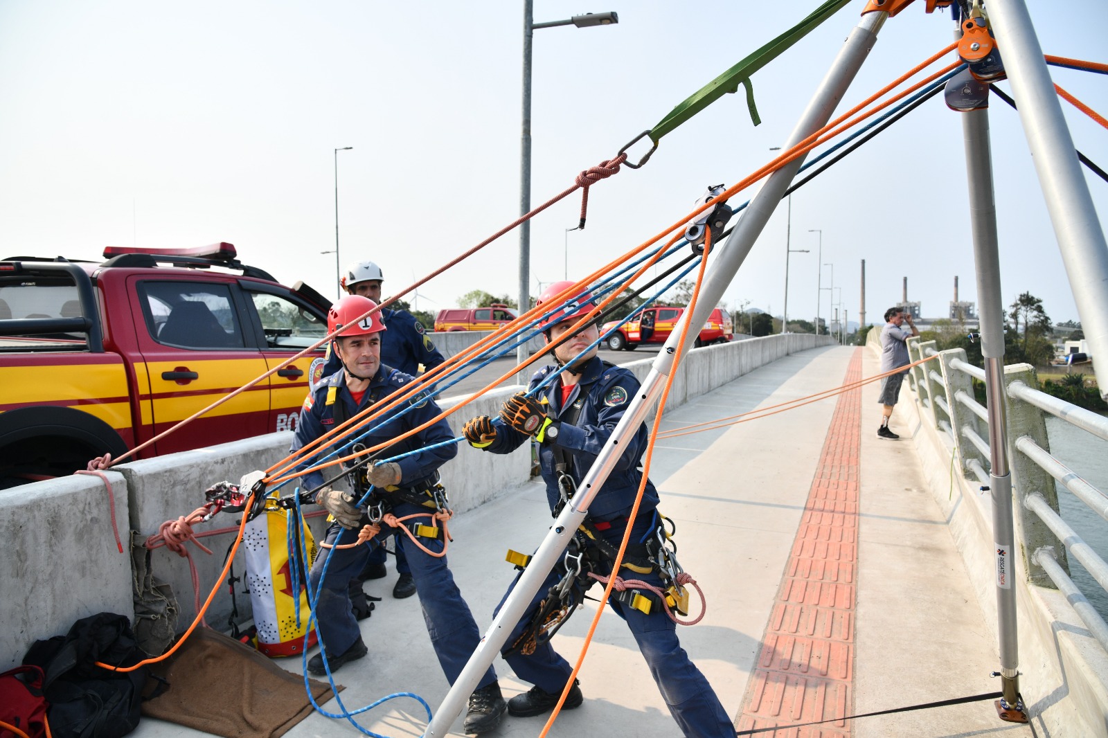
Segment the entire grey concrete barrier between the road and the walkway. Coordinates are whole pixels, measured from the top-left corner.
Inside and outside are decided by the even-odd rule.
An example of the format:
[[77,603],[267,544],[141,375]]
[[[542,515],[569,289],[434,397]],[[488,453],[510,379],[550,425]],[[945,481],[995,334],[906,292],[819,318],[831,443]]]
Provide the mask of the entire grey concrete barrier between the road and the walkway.
[[[475,332],[458,336],[475,340]],[[668,407],[679,407],[788,353],[830,344],[833,340],[827,336],[789,335],[694,349],[681,361]],[[626,356],[634,357],[630,352]],[[652,359],[627,366],[642,379],[649,372]],[[478,398],[450,416],[451,427],[460,433],[465,420],[495,416],[504,399],[519,389],[502,388]],[[447,398],[440,406],[449,410],[465,397]],[[237,483],[244,474],[283,459],[290,440],[291,433],[271,433],[115,467],[110,476],[115,484],[116,517],[124,543],[129,522],[142,537],[156,533],[163,522],[199,508],[209,485],[223,480]],[[454,511],[463,514],[525,484],[530,480],[531,449],[524,445],[512,454],[494,455],[461,444],[458,457],[441,471]],[[288,488],[284,493],[290,492]],[[12,552],[0,564],[0,624],[4,626],[0,666],[17,664],[35,638],[64,633],[79,617],[101,611],[133,617],[131,561],[115,551],[106,512],[106,493],[96,478],[49,480],[0,492],[0,535]],[[229,527],[238,520],[238,515],[220,514],[195,530]],[[319,535],[322,517],[311,519],[310,525]],[[229,532],[201,539],[213,551],[211,556],[189,544],[202,601],[216,584],[233,540]],[[242,554],[236,556],[234,564],[239,577],[244,574],[242,558]],[[151,566],[173,587],[179,607],[177,629],[183,631],[196,613],[188,562],[158,549],[152,553]],[[242,582],[235,586],[239,617],[245,619],[250,614],[249,595],[244,593]],[[222,584],[208,608],[207,622],[224,629],[230,612],[227,586]]]

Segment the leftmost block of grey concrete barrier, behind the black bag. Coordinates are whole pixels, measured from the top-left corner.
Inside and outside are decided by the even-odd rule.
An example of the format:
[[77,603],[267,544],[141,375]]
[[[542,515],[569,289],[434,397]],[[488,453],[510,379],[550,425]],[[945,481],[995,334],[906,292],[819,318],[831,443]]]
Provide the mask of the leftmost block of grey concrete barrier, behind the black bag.
[[0,491],[0,672],[18,666],[38,639],[79,618],[113,612],[134,618],[127,537],[129,490],[107,472],[112,506],[98,476],[63,476]]

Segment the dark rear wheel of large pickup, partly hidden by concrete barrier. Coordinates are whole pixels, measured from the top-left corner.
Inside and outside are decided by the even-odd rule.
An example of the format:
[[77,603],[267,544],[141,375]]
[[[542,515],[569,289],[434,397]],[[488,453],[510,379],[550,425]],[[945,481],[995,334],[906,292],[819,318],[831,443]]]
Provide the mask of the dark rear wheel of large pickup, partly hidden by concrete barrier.
[[0,489],[84,469],[121,457],[127,444],[103,420],[72,408],[19,408],[0,414]]

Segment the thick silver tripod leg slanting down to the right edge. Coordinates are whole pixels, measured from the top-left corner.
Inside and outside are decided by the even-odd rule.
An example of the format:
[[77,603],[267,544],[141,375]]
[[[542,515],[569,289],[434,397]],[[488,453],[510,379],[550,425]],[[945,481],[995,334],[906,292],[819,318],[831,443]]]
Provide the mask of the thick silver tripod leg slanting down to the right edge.
[[[1094,359],[1108,357],[1108,244],[1023,0],[988,0],[997,48],[1019,106],[1039,186]],[[1099,367],[1099,368],[1097,368]],[[1095,365],[1108,397],[1108,361]]]

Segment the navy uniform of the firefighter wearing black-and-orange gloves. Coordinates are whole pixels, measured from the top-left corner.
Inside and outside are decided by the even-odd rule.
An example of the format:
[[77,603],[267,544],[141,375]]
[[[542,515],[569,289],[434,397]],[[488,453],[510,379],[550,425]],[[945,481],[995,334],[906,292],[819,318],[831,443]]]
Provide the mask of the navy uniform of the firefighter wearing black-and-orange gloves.
[[[530,388],[533,389],[545,377],[557,371],[560,371],[558,367],[546,367],[540,370],[532,378]],[[581,379],[566,398],[565,406],[562,404],[561,385],[561,380],[555,380],[538,396],[540,400],[545,398],[548,403],[550,418],[558,420],[568,417],[572,419],[573,414],[576,414],[576,419],[572,423],[561,423],[556,439],[546,440],[540,444],[538,461],[543,480],[546,482],[546,498],[552,511],[561,500],[558,474],[555,470],[555,444],[562,449],[560,454],[563,458],[567,455],[570,459],[571,469],[567,470],[567,473],[573,476],[575,483],[579,483],[639,389],[638,379],[634,373],[622,367],[606,363],[597,357],[589,359],[583,367]],[[509,453],[529,440],[529,435],[513,428],[497,426],[495,440],[484,450],[493,453]],[[604,486],[588,509],[587,520],[616,549],[619,547],[626,531],[627,515],[630,514],[639,482],[643,479],[643,471],[639,467],[646,445],[646,426],[639,426],[635,434],[625,442],[623,455],[616,462],[607,481],[604,482]],[[657,504],[658,492],[654,484],[647,480],[643,502],[632,530],[632,542],[640,541],[653,533],[657,525],[655,517]],[[604,576],[609,575],[612,573],[611,564],[608,566],[607,571],[597,573]],[[546,576],[546,581],[538,587],[538,592],[531,601],[523,617],[509,635],[502,652],[516,676],[537,685],[544,691],[554,694],[561,693],[570,679],[573,668],[568,662],[554,650],[550,640],[537,644],[531,655],[513,650],[512,645],[524,632],[541,601],[561,576],[562,572],[558,567],[555,567]],[[656,572],[650,574],[636,573],[634,578],[643,580],[660,590],[666,587]],[[519,577],[516,577],[517,581]],[[514,587],[515,582],[512,583],[504,598],[497,605],[496,612],[500,612]],[[647,615],[618,602],[609,601],[608,604],[630,629],[670,715],[680,726],[684,735],[697,736],[698,738],[716,736],[733,738],[733,724],[728,718],[708,680],[681,648],[677,638],[676,623],[669,618],[665,609],[653,607]]]

